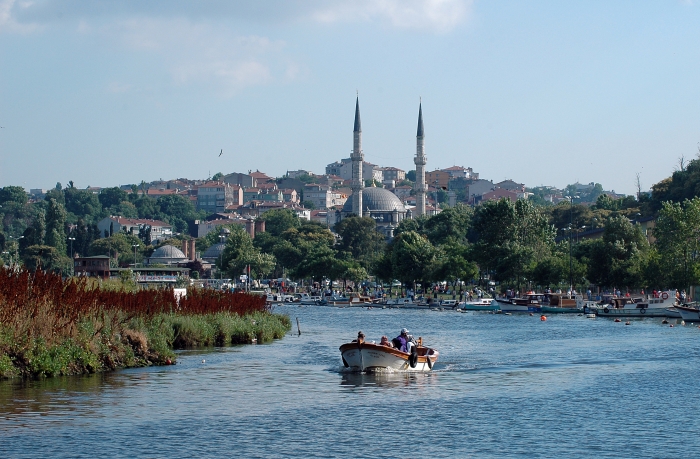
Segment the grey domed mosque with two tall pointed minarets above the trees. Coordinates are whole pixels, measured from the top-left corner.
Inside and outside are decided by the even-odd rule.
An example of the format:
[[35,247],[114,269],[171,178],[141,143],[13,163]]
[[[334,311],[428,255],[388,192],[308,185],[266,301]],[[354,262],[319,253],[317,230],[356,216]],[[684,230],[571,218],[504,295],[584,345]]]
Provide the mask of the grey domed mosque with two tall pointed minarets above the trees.
[[413,190],[416,195],[416,207],[413,212],[404,206],[403,202],[391,191],[375,186],[365,188],[362,179],[362,125],[360,122],[360,100],[355,101],[355,127],[353,130],[353,149],[350,155],[352,161],[352,195],[348,198],[343,209],[336,215],[336,221],[351,215],[371,217],[377,222],[377,229],[384,233],[387,239],[394,237],[394,230],[404,218],[425,215],[425,143],[423,131],[423,107],[418,106],[418,130],[416,133],[416,182]]

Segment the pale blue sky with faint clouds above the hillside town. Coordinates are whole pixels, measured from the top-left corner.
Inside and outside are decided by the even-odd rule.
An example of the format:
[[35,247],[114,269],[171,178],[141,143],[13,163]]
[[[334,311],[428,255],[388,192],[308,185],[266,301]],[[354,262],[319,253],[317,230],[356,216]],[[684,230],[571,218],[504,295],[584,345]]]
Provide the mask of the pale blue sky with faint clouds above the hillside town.
[[[0,0],[0,186],[350,156],[634,194],[698,154],[700,1]],[[220,151],[223,154],[219,156]]]

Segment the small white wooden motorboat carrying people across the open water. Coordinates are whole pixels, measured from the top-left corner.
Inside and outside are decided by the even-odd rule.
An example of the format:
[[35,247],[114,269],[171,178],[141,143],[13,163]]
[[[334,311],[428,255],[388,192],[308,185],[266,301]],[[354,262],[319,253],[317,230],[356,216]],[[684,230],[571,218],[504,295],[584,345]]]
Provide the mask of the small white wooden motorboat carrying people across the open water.
[[345,368],[351,371],[430,371],[433,369],[439,356],[438,351],[423,346],[422,338],[418,338],[418,345],[412,350],[412,353],[408,353],[395,347],[355,340],[341,345],[340,355]]

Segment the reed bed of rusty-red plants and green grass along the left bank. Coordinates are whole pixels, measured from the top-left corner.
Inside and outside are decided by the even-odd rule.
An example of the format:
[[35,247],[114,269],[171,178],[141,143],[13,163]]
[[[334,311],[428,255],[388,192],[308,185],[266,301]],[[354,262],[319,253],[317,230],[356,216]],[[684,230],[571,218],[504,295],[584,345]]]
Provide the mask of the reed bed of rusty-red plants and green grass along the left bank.
[[257,295],[188,289],[177,301],[170,289],[0,269],[0,377],[169,364],[173,348],[265,343],[290,328]]

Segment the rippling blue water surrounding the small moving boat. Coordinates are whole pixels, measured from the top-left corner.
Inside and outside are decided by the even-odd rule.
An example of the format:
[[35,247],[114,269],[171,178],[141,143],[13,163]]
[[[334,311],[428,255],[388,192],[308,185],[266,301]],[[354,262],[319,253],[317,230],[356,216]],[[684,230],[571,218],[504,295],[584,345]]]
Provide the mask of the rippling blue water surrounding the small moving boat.
[[[302,335],[171,367],[0,382],[0,457],[697,456],[695,326],[278,307]],[[341,371],[358,330],[407,327],[427,374]],[[202,361],[205,360],[203,363]]]

